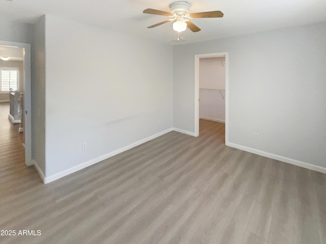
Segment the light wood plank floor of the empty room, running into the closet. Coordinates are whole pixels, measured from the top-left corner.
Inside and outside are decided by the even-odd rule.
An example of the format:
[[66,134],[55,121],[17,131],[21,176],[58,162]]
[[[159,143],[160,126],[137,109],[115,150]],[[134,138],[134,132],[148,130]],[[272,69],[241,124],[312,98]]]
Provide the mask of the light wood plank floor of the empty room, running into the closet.
[[201,120],[197,138],[170,132],[48,185],[6,150],[0,229],[41,235],[0,243],[325,244],[326,175],[227,147],[224,130]]

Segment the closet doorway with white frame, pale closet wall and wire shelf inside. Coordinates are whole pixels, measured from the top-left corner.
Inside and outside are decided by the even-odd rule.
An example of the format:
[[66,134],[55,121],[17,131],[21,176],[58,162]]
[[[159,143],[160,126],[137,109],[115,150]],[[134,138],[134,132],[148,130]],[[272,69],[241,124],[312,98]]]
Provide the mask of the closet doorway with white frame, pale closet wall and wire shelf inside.
[[195,55],[195,136],[199,119],[225,123],[228,142],[228,52]]

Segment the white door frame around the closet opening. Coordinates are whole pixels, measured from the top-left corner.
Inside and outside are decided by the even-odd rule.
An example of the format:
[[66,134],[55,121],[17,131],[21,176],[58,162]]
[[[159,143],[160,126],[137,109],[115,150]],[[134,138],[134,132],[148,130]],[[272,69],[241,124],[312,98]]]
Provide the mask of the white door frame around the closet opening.
[[195,107],[194,134],[199,136],[199,59],[205,57],[225,57],[225,144],[229,142],[229,53],[217,52],[195,55]]

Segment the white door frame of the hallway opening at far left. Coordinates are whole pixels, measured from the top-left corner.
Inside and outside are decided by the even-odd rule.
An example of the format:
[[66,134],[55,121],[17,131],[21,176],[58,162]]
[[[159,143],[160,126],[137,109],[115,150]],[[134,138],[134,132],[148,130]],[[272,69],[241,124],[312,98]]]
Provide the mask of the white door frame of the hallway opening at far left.
[[0,46],[20,47],[23,49],[25,164],[27,166],[31,166],[32,165],[31,44],[0,40]]

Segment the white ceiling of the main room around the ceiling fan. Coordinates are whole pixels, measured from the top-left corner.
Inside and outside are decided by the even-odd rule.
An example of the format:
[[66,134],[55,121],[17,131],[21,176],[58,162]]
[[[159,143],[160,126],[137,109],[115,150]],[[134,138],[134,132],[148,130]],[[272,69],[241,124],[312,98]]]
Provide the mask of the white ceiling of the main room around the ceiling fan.
[[169,17],[143,14],[147,8],[170,12],[173,0],[0,0],[0,16],[35,23],[43,14],[99,26],[159,42],[183,44],[326,21],[326,0],[190,0],[190,13],[220,10],[223,18],[193,19],[202,30],[187,29],[176,39],[172,23],[149,25]]

